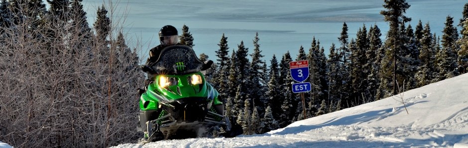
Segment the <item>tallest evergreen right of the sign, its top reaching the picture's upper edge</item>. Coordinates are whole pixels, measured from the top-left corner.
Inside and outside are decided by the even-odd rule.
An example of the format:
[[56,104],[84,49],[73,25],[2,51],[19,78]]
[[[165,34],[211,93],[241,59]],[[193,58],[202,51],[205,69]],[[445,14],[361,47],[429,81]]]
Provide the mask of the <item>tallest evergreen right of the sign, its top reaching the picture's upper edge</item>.
[[[400,48],[404,44],[400,43],[400,36],[404,33],[400,32],[398,27],[400,24],[403,25],[411,21],[411,18],[403,15],[410,5],[406,0],[384,0],[384,2],[385,4],[383,4],[383,7],[386,10],[380,11],[380,14],[384,16],[385,21],[389,22],[390,28],[384,44],[385,56],[381,63],[380,87],[383,88],[384,92],[396,94],[397,83],[402,84],[402,77],[404,77],[404,74],[398,74],[397,72],[397,63],[400,62],[398,61],[399,57],[403,57],[399,55],[401,52]],[[400,79],[397,79],[398,77],[400,77]],[[386,96],[388,96],[388,94]]]

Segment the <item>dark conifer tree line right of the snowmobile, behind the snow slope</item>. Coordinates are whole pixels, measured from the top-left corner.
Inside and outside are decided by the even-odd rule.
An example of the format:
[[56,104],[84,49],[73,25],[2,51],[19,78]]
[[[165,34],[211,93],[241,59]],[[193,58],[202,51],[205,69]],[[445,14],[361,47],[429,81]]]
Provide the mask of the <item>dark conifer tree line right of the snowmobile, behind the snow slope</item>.
[[[328,56],[312,37],[311,45],[300,46],[295,57],[289,51],[281,57],[273,55],[268,67],[262,60],[258,32],[251,54],[244,41],[230,49],[223,34],[209,80],[223,97],[227,115],[242,125],[244,134],[261,134],[467,73],[468,3],[459,24],[447,16],[442,35],[422,20],[413,29],[411,18],[404,15],[409,7],[405,0],[384,0],[380,14],[390,28],[383,41],[376,24],[364,24],[350,37],[344,22],[339,44],[331,45]],[[462,27],[460,32],[457,25]],[[303,117],[300,95],[291,89],[295,81],[289,62],[300,60],[308,60],[310,67],[307,117]]]

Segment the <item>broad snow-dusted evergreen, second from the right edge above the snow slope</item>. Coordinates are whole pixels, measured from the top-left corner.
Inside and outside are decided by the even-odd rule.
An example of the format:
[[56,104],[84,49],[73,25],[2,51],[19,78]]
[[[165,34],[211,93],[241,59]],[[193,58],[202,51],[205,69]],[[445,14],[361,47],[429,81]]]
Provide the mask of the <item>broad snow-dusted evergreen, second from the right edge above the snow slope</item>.
[[457,40],[458,31],[454,26],[453,17],[447,16],[442,34],[442,49],[436,55],[436,68],[439,71],[437,81],[459,75],[457,51],[460,47],[456,43]]

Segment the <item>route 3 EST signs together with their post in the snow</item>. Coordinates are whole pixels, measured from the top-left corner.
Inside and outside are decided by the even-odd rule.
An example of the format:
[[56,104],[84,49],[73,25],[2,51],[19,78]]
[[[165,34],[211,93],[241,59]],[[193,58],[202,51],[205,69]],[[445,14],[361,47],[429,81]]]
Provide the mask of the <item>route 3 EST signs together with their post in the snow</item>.
[[294,93],[301,93],[302,98],[302,111],[304,112],[304,119],[307,118],[306,104],[304,99],[304,92],[311,90],[310,82],[304,82],[309,77],[309,61],[293,61],[289,62],[289,70],[291,71],[291,77],[299,82],[292,84],[292,91]]

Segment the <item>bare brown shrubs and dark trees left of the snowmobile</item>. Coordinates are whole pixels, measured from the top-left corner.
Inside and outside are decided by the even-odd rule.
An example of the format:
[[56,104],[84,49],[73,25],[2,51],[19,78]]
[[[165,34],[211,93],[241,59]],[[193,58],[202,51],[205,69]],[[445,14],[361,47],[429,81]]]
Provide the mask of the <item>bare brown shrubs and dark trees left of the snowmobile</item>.
[[[140,138],[135,49],[103,5],[1,0],[0,139],[19,148],[110,147]],[[116,14],[114,14],[116,15]],[[91,26],[91,27],[90,27]]]

